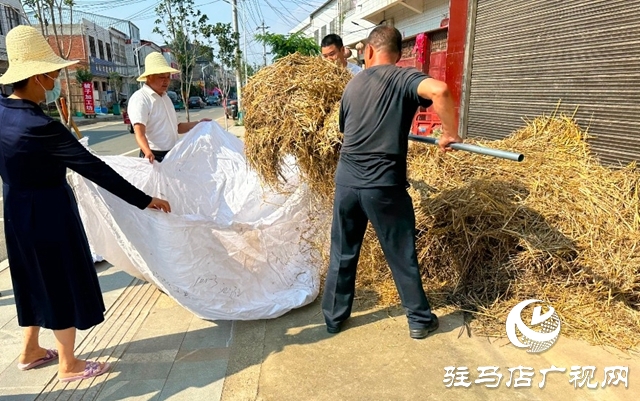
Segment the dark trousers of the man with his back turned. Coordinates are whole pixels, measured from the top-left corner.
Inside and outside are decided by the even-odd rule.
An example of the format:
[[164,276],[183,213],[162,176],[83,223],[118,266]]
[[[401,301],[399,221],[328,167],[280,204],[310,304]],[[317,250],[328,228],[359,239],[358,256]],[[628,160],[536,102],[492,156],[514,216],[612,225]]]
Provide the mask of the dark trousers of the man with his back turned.
[[433,315],[422,288],[416,255],[413,204],[403,186],[368,189],[336,186],[331,256],[322,298],[327,325],[338,325],[351,315],[356,266],[368,221],[391,268],[407,311],[409,328],[424,328]]

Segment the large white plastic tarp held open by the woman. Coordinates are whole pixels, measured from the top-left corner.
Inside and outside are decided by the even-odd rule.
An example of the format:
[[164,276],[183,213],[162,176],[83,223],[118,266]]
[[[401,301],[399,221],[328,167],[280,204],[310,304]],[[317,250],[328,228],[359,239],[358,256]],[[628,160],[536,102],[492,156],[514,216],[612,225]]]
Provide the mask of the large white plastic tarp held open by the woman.
[[289,169],[290,192],[261,186],[243,142],[215,122],[198,124],[162,163],[102,156],[129,182],[167,199],[172,213],[141,211],[72,174],[92,250],[150,281],[204,319],[278,317],[312,302],[309,199]]

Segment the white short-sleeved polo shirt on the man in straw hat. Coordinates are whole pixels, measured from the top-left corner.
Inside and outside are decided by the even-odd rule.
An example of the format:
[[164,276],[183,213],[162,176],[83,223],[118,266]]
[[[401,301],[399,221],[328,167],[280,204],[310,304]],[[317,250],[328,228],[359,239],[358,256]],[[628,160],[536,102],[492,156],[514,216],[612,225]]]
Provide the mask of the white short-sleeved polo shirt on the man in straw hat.
[[178,142],[178,116],[166,93],[160,96],[144,84],[131,95],[127,113],[131,124],[146,127],[151,150],[171,150]]

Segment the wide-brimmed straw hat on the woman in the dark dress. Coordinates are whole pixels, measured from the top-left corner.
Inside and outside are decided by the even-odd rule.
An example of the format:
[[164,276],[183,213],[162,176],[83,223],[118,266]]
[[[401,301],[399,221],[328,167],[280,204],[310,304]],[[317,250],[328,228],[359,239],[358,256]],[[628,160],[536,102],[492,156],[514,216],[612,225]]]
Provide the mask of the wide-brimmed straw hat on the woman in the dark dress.
[[9,68],[0,77],[8,85],[38,74],[46,74],[76,64],[53,52],[47,40],[34,27],[18,25],[7,33]]

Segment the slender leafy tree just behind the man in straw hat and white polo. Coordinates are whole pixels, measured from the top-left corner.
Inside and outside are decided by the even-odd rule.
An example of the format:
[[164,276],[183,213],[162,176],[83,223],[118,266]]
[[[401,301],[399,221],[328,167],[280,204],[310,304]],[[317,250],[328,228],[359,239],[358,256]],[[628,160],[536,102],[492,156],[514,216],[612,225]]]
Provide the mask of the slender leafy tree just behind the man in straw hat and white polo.
[[[208,44],[214,27],[207,15],[196,9],[194,0],[163,0],[156,7],[156,14],[153,32],[166,40],[179,65],[180,93],[186,101],[197,62],[211,54]],[[188,107],[187,121],[190,121]]]

